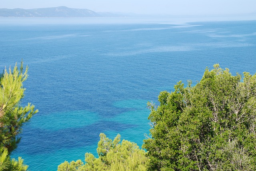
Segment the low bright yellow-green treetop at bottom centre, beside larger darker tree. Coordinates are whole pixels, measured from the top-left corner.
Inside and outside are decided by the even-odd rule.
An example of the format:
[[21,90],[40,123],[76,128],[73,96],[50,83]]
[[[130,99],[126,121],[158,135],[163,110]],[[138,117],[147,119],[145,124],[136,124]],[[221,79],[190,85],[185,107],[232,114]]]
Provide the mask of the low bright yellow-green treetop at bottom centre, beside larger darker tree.
[[98,158],[91,153],[85,154],[86,163],[81,160],[71,161],[58,166],[58,171],[144,171],[146,170],[146,162],[148,158],[145,151],[139,149],[136,143],[123,140],[120,143],[120,135],[118,134],[114,140],[106,137],[104,133],[100,133],[100,141],[98,142]]

